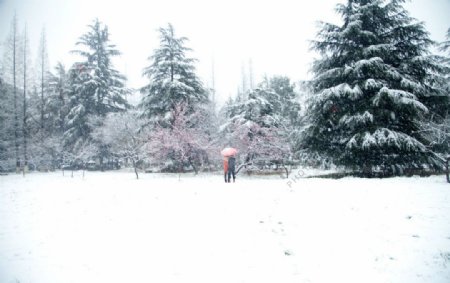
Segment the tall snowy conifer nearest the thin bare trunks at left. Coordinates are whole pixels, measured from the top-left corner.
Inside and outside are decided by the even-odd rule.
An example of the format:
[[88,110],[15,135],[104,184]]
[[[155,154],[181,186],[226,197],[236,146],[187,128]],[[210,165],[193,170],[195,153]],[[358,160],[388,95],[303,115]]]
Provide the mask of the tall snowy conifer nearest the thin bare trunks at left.
[[[112,59],[120,55],[110,43],[107,26],[96,19],[88,26],[73,51],[84,60],[69,71],[69,109],[64,140],[66,146],[76,147],[91,139],[93,127],[89,118],[104,117],[111,112],[127,109],[125,77],[114,69]],[[99,121],[99,120],[97,120]]]

